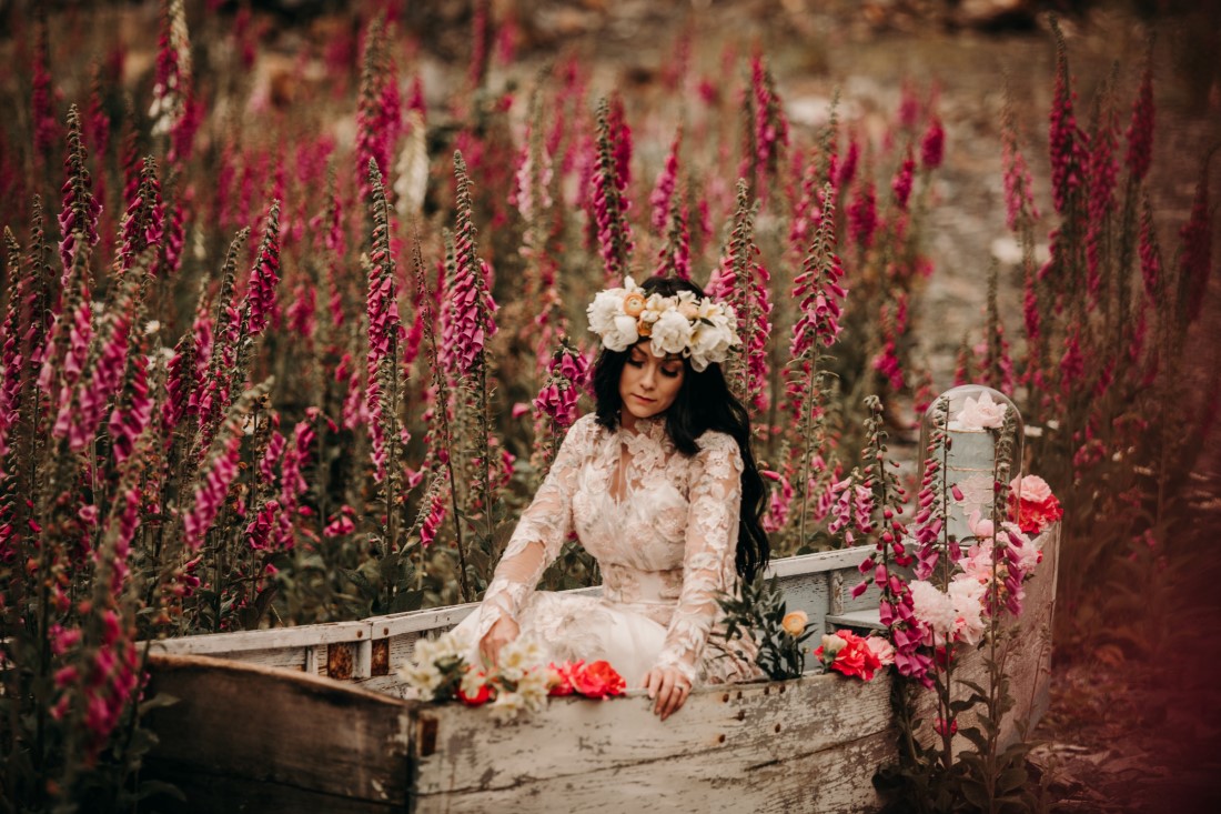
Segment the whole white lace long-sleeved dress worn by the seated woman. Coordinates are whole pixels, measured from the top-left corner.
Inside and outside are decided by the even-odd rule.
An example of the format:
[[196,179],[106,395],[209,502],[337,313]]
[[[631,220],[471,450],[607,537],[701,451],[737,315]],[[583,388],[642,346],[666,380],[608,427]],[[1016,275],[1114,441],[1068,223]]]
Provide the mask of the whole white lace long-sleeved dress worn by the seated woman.
[[[508,616],[552,660],[606,659],[629,688],[654,666],[692,683],[758,677],[750,642],[733,645],[747,659],[708,644],[717,595],[734,587],[742,460],[724,433],[697,442],[694,456],[675,450],[663,418],[615,431],[580,418],[462,627],[477,642]],[[602,570],[601,598],[535,590],[573,532]]]

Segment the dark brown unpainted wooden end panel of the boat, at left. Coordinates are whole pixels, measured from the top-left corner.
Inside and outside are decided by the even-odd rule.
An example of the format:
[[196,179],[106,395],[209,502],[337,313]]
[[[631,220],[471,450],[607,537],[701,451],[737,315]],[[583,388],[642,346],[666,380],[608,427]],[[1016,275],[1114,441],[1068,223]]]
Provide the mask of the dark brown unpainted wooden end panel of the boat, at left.
[[331,808],[294,803],[311,796],[370,804],[352,810],[405,807],[411,704],[208,656],[151,655],[149,671],[150,694],[179,700],[148,717],[160,742],[145,776],[186,780],[188,799],[209,801],[189,810],[238,810],[239,793],[260,783],[266,804],[252,810]]

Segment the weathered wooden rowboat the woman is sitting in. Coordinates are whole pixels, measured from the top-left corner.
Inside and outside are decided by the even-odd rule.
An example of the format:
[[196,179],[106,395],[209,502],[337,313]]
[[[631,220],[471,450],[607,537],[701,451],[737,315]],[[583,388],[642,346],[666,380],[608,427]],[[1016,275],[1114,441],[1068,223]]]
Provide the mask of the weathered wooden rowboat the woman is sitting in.
[[[1033,726],[1048,705],[1059,529],[1027,583],[1010,638],[1004,721]],[[779,560],[790,609],[827,629],[877,626],[877,595],[852,599],[868,550]],[[597,589],[587,589],[597,590]],[[549,699],[497,725],[486,709],[402,700],[396,667],[413,643],[473,605],[359,622],[156,643],[160,744],[145,776],[178,786],[187,812],[869,812],[871,782],[895,760],[890,671],[696,689],[661,722],[641,692]],[[982,655],[962,676],[983,675]],[[933,694],[924,693],[932,715]]]

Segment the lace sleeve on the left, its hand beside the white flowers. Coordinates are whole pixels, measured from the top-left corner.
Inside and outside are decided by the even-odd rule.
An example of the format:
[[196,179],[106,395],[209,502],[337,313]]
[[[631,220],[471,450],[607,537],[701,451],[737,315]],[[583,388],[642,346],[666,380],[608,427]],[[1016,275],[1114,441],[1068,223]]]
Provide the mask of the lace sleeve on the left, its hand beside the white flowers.
[[521,512],[521,519],[484,594],[484,612],[477,629],[480,639],[502,616],[518,618],[543,570],[559,555],[573,529],[573,491],[578,469],[590,452],[596,429],[592,416],[573,425],[534,501]]

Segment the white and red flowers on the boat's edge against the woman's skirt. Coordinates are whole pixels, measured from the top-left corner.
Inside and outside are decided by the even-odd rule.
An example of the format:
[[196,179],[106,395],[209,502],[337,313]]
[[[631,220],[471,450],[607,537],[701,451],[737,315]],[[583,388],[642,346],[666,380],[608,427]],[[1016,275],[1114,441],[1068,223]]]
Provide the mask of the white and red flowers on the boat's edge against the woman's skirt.
[[466,661],[474,642],[466,632],[451,631],[436,639],[419,639],[411,660],[398,670],[408,697],[419,700],[460,700],[488,705],[492,716],[512,721],[523,711],[542,709],[549,695],[613,698],[625,688],[623,676],[607,661],[546,664],[542,647],[530,637],[505,644],[495,666]]

